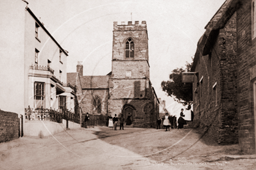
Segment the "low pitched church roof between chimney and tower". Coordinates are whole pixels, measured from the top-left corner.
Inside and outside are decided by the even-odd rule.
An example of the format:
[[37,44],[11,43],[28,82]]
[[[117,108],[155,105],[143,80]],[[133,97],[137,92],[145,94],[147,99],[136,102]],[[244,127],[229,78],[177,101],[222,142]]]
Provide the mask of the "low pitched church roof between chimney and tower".
[[81,76],[82,89],[108,89],[108,75]]

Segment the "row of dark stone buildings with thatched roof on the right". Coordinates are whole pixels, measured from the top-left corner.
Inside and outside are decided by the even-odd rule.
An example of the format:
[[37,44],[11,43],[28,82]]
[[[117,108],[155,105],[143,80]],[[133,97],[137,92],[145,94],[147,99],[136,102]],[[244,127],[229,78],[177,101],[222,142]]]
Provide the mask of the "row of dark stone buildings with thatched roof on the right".
[[219,143],[255,154],[255,0],[227,0],[205,27],[191,72],[195,119]]

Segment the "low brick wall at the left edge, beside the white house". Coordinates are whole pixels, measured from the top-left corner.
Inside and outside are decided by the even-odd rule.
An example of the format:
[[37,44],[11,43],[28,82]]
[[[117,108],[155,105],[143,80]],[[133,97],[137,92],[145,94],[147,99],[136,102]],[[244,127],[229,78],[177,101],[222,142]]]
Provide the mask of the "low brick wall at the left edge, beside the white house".
[[0,110],[0,143],[19,138],[19,121],[17,113]]

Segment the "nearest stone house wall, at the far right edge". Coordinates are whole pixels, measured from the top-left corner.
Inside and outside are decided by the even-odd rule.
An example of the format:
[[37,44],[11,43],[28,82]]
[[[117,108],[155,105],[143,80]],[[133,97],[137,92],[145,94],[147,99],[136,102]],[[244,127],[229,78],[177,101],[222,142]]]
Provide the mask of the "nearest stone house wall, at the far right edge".
[[239,145],[243,153],[255,154],[256,38],[252,39],[252,1],[243,1],[237,10],[237,42]]

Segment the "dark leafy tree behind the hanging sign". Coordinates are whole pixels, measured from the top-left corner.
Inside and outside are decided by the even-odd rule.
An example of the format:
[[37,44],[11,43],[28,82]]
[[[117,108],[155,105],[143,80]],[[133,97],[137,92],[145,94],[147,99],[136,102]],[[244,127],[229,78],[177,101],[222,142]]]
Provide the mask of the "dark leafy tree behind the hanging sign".
[[[187,72],[191,70],[191,64],[186,63]],[[183,68],[176,68],[170,74],[169,81],[162,81],[162,90],[166,91],[168,96],[175,98],[179,103],[191,104],[193,100],[192,82],[182,82],[182,73],[185,72]]]

